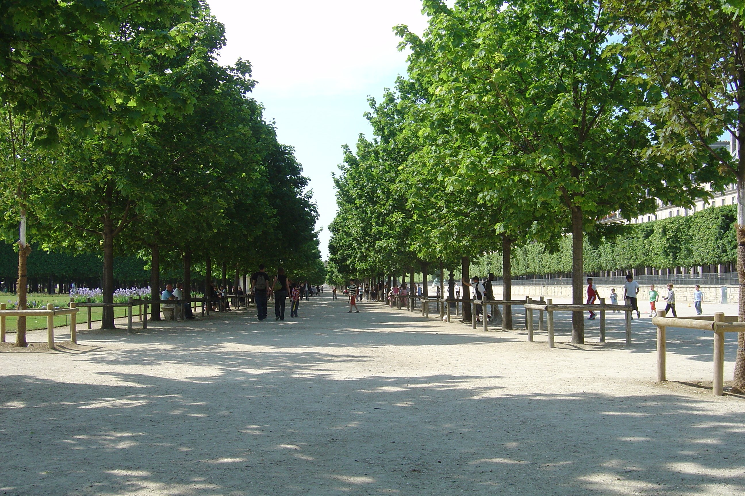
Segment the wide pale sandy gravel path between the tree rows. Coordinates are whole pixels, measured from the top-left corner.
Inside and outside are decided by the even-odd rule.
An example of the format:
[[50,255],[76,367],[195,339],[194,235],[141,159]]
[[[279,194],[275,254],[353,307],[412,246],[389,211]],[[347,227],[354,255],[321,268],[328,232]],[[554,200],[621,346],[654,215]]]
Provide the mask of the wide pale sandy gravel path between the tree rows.
[[549,350],[545,332],[345,303],[0,353],[0,494],[745,492],[745,399],[706,389],[710,335],[668,329],[671,381],[655,384],[648,320],[632,347],[616,315],[609,343],[595,321],[572,346],[567,314]]

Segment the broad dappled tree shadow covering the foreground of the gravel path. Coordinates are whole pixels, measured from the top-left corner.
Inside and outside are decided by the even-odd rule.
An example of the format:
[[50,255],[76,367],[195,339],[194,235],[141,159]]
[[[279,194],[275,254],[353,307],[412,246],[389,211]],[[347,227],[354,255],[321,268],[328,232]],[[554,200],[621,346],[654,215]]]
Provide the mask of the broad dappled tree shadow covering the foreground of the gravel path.
[[[146,355],[156,355],[120,352],[143,367]],[[174,347],[167,354],[179,353]],[[113,385],[1,376],[0,435],[10,456],[0,468],[0,490],[25,496],[745,491],[745,413],[722,414],[716,402],[668,393],[507,394],[484,376],[373,370],[344,377],[331,372],[338,361],[364,357],[311,350],[211,354],[218,356],[209,373],[181,370],[178,379],[145,368],[107,373]],[[188,352],[173,366],[196,373],[206,367]]]

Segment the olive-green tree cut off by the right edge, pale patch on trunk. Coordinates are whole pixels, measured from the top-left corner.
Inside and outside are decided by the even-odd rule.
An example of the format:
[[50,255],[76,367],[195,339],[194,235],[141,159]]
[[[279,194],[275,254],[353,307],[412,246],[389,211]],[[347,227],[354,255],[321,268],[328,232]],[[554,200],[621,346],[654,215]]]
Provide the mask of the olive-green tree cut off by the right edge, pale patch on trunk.
[[[656,104],[637,109],[656,124],[648,153],[687,161],[706,150],[738,184],[738,276],[745,283],[745,155],[732,158],[713,141],[723,131],[745,144],[743,2],[612,0],[626,34],[624,52],[638,67],[638,84]],[[740,295],[745,320],[745,292]],[[735,387],[745,390],[745,332],[738,335]]]

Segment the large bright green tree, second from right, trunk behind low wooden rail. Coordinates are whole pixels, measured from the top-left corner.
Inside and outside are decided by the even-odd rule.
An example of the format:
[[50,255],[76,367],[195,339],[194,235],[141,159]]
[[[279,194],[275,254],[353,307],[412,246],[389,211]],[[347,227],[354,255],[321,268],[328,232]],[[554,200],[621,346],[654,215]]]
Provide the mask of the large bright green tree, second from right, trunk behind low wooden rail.
[[[573,234],[574,303],[583,300],[584,234],[599,237],[597,219],[653,211],[655,197],[690,204],[706,194],[696,181],[716,181],[715,168],[691,173],[641,154],[651,129],[628,109],[648,95],[630,80],[635,67],[600,1],[428,0],[425,12],[423,39],[399,29],[413,50],[410,72],[431,80],[434,118],[461,124],[491,158],[470,164],[489,170],[482,190],[519,177],[534,209],[564,212],[556,223]],[[572,341],[583,340],[574,312]]]

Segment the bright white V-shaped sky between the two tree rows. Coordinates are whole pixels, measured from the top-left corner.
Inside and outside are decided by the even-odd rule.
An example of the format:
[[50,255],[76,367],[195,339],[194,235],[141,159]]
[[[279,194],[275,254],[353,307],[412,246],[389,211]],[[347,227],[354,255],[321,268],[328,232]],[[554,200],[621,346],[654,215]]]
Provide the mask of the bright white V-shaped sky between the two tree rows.
[[[328,255],[336,199],[332,172],[341,146],[354,149],[367,97],[379,99],[406,73],[406,54],[393,26],[426,27],[421,0],[209,0],[225,25],[223,64],[241,57],[258,81],[253,97],[276,121],[279,141],[294,146],[318,204],[321,252]],[[372,205],[371,205],[372,207]]]

